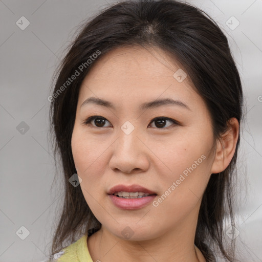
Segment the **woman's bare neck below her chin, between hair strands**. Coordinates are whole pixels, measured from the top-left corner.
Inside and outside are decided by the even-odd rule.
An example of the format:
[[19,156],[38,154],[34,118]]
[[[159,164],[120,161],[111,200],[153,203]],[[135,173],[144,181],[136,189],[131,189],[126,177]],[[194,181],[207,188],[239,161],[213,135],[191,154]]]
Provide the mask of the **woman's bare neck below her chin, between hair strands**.
[[193,239],[189,239],[190,234],[174,237],[169,231],[155,239],[132,241],[119,238],[102,227],[88,237],[88,248],[93,261],[122,262],[124,258],[126,262],[205,262]]

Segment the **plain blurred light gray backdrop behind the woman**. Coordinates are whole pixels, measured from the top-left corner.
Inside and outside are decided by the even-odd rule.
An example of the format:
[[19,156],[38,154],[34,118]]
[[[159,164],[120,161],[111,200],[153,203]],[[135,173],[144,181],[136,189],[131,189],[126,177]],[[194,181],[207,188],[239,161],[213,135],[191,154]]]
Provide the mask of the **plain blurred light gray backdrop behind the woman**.
[[[0,1],[1,262],[47,259],[53,219],[62,200],[59,180],[51,190],[54,159],[47,137],[51,79],[77,25],[107,3]],[[243,261],[262,261],[262,1],[188,3],[205,10],[226,33],[242,77],[246,119],[238,159],[236,239]],[[16,25],[21,16],[30,22],[24,30]],[[23,21],[20,27],[26,25]],[[20,239],[27,230],[29,235]],[[227,230],[230,237],[226,225]]]

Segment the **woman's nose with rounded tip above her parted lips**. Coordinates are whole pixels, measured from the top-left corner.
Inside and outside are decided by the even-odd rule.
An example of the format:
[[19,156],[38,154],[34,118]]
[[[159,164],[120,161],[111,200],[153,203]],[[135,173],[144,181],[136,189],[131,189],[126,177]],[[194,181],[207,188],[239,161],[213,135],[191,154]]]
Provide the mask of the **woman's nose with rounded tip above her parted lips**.
[[115,172],[138,173],[149,168],[148,147],[136,128],[130,134],[119,131],[119,137],[112,144],[110,169]]

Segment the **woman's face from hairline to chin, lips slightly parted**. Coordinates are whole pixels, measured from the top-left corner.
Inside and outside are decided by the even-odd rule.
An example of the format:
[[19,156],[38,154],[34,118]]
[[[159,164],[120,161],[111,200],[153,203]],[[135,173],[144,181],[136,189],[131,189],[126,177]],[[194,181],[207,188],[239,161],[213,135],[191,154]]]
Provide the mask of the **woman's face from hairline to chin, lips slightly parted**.
[[[212,173],[209,112],[168,57],[160,49],[116,49],[99,58],[80,88],[72,135],[80,186],[103,228],[120,238],[129,233],[145,240],[195,229]],[[84,103],[91,97],[112,106]],[[177,102],[156,103],[162,99]],[[83,123],[92,116],[97,117]],[[117,185],[139,185],[155,195],[108,194]]]

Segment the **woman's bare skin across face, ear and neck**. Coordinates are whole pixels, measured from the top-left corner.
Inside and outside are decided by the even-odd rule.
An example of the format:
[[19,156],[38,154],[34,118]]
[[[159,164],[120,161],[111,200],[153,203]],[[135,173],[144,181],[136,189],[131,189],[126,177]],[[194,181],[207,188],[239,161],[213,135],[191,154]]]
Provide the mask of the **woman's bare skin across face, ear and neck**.
[[[228,132],[215,141],[204,100],[189,77],[173,77],[179,63],[158,48],[121,47],[96,61],[82,82],[72,135],[72,152],[86,203],[102,224],[88,238],[93,261],[205,261],[194,247],[202,195],[211,173],[230,163],[238,137],[238,122],[230,119]],[[111,101],[116,110],[94,103],[81,107],[89,97]],[[185,103],[140,111],[144,102],[172,98]],[[90,116],[106,119],[99,125]],[[156,117],[168,117],[160,128]],[[135,127],[125,134],[121,126]],[[98,125],[96,125],[98,124]],[[149,203],[138,210],[116,207],[107,191],[118,184],[139,184],[157,198],[201,156],[206,158],[157,207]],[[134,232],[129,239],[125,227]]]

